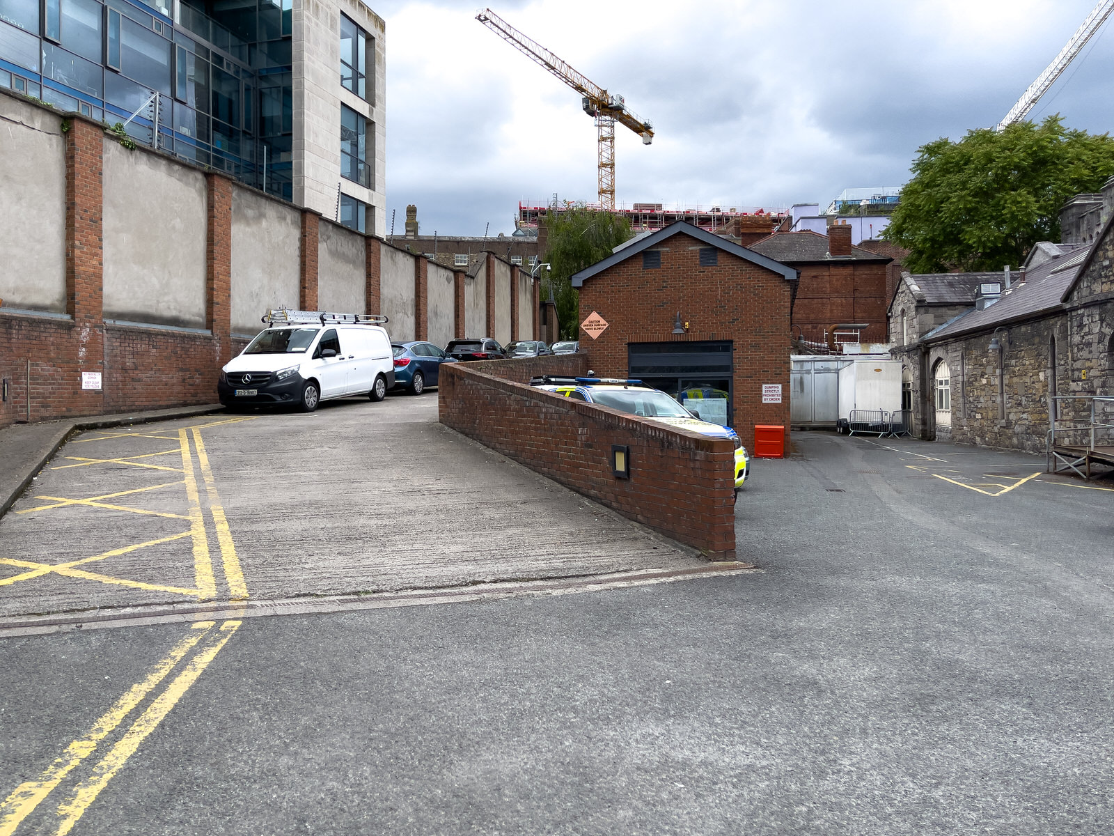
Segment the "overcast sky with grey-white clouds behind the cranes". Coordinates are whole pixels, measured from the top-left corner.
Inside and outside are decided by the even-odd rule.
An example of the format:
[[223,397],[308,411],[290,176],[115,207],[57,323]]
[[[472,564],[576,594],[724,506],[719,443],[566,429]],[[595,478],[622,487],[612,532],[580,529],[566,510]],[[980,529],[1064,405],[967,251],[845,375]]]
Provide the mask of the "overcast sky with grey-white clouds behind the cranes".
[[[901,185],[918,146],[995,125],[1094,0],[500,0],[492,10],[654,125],[616,127],[616,197],[827,204]],[[511,232],[519,201],[596,200],[596,128],[576,93],[469,2],[380,0],[387,226]],[[1108,21],[1030,116],[1114,128]]]

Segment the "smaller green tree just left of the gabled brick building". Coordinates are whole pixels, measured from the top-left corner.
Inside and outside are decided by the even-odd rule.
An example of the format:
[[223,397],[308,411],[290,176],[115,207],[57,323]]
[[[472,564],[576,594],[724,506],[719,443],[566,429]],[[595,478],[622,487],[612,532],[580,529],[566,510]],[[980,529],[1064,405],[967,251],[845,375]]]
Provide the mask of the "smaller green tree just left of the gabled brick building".
[[557,302],[560,336],[577,339],[580,327],[580,294],[573,286],[571,276],[603,261],[612,250],[631,237],[631,222],[610,212],[596,212],[584,204],[575,204],[560,212],[546,213],[544,223],[548,231],[543,261],[553,265],[543,273],[541,299]]

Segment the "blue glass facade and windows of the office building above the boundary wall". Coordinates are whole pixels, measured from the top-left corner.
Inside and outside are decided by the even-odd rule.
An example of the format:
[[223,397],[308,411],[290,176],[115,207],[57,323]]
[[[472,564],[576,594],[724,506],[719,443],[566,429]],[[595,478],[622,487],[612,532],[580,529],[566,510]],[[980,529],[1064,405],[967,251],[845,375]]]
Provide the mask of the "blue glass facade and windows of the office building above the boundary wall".
[[[145,145],[154,144],[157,118],[163,150],[301,205],[331,191],[335,210],[311,208],[374,232],[367,221],[379,203],[371,105],[361,114],[333,103],[338,181],[328,189],[295,184],[293,3],[0,0],[0,87],[108,125],[134,116],[126,130]],[[375,39],[339,10],[331,19],[342,54],[336,96],[348,95],[343,88],[373,103]],[[342,179],[359,188],[342,187]]]

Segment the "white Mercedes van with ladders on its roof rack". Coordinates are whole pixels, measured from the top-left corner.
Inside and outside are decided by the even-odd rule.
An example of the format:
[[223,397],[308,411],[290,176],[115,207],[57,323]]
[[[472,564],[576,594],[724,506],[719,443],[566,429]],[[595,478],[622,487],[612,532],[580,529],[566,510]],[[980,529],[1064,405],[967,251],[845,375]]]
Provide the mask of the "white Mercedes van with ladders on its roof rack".
[[382,400],[394,386],[387,317],[321,311],[267,311],[268,328],[221,370],[226,407],[297,406],[312,412],[330,398]]

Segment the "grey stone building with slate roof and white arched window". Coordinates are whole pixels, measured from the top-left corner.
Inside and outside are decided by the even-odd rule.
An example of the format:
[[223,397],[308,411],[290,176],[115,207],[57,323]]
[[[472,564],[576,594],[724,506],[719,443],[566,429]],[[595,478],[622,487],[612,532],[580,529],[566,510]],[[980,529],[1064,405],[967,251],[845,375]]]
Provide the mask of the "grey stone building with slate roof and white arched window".
[[915,435],[1044,453],[1053,410],[1064,421],[1114,396],[1114,217],[1012,274],[906,273],[889,323]]

